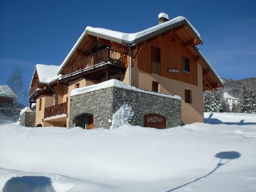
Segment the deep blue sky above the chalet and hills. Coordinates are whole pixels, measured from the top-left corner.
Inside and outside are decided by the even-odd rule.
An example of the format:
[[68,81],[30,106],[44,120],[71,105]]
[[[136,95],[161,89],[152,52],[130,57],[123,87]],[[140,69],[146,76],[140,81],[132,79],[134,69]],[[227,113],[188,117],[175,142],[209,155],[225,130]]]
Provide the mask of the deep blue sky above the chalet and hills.
[[35,65],[60,65],[86,26],[137,32],[160,12],[189,19],[221,77],[256,77],[255,10],[254,0],[0,0],[0,84],[19,65],[28,90]]

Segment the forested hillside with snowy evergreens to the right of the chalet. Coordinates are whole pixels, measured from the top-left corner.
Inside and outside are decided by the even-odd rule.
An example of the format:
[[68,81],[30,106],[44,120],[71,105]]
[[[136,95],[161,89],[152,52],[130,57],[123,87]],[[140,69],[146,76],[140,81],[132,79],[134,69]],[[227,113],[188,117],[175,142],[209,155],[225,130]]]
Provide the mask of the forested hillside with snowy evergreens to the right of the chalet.
[[204,91],[204,112],[256,113],[256,78],[223,78],[224,88]]

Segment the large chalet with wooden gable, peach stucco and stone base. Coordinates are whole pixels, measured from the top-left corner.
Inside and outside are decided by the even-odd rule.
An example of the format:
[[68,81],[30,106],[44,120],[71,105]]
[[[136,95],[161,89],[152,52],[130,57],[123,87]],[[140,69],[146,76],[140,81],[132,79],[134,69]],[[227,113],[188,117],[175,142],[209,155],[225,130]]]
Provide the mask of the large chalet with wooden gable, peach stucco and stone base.
[[158,22],[131,34],[86,27],[60,66],[36,65],[29,94],[35,125],[109,128],[123,104],[134,111],[132,125],[203,122],[203,91],[223,86],[221,78],[186,18],[160,13]]

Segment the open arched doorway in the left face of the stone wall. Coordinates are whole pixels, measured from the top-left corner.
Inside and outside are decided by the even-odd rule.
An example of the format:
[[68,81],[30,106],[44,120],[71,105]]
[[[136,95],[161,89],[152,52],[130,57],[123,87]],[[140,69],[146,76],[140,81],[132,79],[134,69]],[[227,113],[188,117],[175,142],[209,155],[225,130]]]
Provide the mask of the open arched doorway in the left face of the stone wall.
[[93,115],[92,114],[80,114],[75,120],[75,126],[82,127],[83,129],[93,129]]

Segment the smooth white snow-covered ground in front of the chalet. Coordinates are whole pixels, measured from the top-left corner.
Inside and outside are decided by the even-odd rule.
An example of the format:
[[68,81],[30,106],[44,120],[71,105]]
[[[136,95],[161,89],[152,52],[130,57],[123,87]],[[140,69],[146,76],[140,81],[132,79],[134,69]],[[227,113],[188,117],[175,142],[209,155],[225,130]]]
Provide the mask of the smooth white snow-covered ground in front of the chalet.
[[[255,191],[256,114],[205,115],[206,121],[215,118],[234,125],[194,123],[165,130],[140,126],[84,130],[2,124],[0,189]],[[235,125],[241,120],[250,124]]]

